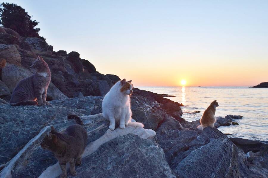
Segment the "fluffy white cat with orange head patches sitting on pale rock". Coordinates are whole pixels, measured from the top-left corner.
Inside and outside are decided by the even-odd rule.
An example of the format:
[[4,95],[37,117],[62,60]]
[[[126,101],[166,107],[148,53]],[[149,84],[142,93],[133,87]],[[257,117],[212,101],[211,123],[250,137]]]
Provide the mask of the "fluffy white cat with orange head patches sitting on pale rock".
[[125,126],[144,127],[142,123],[131,122],[130,95],[133,93],[131,81],[123,79],[116,82],[102,101],[102,115],[110,121],[109,128],[115,129],[119,124],[121,129]]

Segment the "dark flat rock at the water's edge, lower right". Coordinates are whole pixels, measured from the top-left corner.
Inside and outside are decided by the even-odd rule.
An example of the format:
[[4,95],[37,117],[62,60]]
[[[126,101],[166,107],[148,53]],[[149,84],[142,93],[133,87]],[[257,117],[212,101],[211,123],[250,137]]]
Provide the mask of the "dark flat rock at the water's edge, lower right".
[[258,152],[260,151],[260,147],[264,145],[264,143],[249,140],[249,139],[242,139],[242,138],[229,138],[237,147],[241,148],[245,153],[252,151]]

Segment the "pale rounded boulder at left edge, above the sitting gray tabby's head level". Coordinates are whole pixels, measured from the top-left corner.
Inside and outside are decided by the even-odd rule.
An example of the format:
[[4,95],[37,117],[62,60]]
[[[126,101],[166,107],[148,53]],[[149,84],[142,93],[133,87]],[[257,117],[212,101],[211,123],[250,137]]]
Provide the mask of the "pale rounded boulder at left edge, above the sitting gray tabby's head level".
[[7,63],[21,65],[21,55],[14,45],[0,44],[0,58],[6,59]]

